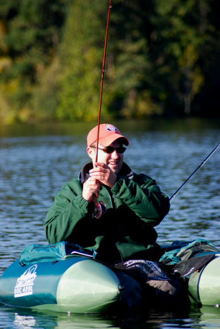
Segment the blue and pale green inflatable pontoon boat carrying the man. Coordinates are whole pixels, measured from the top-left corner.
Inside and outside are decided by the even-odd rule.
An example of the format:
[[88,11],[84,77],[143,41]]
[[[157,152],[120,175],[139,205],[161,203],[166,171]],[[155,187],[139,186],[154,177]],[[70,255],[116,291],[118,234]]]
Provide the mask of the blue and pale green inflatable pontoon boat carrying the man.
[[[171,248],[172,256],[170,251],[165,252],[165,260],[176,261],[177,256],[190,251],[188,259],[171,267],[173,274],[185,280],[191,304],[219,307],[219,251],[202,240],[184,244],[182,248]],[[129,260],[110,267],[77,245],[71,245],[70,251],[69,248],[65,242],[26,247],[21,258],[0,278],[0,302],[13,307],[71,313],[140,310],[146,296],[138,279],[142,276],[146,282],[156,274],[157,280],[169,280],[163,267],[160,272],[162,263]],[[151,265],[148,263],[157,265],[158,272],[154,266],[148,267]],[[134,275],[134,270],[138,270],[138,276]]]

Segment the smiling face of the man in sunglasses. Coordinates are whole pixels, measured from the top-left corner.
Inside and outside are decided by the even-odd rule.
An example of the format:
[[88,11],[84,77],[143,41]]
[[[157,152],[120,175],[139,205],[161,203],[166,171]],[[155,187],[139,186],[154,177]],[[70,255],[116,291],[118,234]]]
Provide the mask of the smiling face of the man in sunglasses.
[[[118,147],[121,147],[122,144],[118,140],[116,140],[112,144],[110,144],[109,145],[110,147],[115,148],[114,151],[110,154],[107,154],[101,150],[105,146],[106,145],[99,144],[100,149],[98,151],[97,162],[103,162],[103,163],[107,164],[107,166],[110,167],[110,169],[112,169],[112,171],[114,173],[118,174],[119,171],[121,170],[121,167],[123,164],[123,153],[118,153],[116,149]],[[90,156],[90,158],[93,160],[93,165],[94,165],[97,149],[95,149],[93,147],[88,147],[87,151],[88,151],[88,156]]]

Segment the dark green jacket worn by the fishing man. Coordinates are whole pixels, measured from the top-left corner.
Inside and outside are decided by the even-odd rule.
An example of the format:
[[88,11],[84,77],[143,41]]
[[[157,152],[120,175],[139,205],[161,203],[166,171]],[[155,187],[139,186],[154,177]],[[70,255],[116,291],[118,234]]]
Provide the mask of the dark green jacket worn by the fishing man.
[[96,258],[106,263],[134,258],[158,260],[154,226],[169,212],[169,198],[156,181],[147,175],[133,173],[123,163],[113,188],[101,186],[98,201],[107,210],[94,218],[94,204],[82,197],[82,186],[93,167],[84,166],[56,195],[47,212],[45,232],[49,243],[69,241],[95,251]]

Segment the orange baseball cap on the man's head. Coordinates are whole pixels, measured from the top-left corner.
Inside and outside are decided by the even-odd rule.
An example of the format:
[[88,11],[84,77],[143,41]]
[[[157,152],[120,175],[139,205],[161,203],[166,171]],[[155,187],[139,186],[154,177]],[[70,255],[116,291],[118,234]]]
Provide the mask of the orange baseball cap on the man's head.
[[[97,141],[97,130],[98,126],[94,127],[87,136],[87,145],[91,146],[93,143]],[[109,146],[114,141],[116,141],[118,138],[123,138],[123,143],[128,146],[129,141],[128,139],[123,136],[120,132],[120,130],[115,127],[114,125],[110,125],[108,123],[103,123],[102,125],[99,125],[99,143],[103,146]]]

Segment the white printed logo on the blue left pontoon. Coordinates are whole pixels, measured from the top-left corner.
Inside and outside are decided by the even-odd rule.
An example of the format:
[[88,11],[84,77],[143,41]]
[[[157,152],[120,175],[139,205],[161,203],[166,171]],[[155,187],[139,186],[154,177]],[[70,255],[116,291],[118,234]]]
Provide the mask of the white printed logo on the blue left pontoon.
[[14,297],[33,295],[37,267],[38,265],[32,265],[17,279],[16,286],[14,287]]

